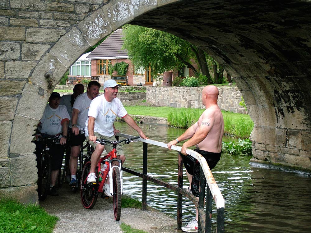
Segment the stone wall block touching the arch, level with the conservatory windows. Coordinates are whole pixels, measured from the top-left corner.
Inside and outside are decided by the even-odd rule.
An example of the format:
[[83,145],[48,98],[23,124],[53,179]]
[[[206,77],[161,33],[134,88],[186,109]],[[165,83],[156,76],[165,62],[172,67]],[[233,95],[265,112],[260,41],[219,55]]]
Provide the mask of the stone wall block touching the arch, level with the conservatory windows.
[[35,68],[36,62],[12,61],[5,63],[6,79],[28,79],[30,71]]

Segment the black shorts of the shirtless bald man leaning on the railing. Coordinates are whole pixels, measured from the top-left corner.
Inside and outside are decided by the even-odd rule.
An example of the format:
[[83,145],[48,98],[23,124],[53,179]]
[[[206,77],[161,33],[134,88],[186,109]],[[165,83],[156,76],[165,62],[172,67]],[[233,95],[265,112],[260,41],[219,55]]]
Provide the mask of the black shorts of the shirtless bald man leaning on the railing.
[[[194,149],[197,153],[202,155],[207,164],[208,167],[212,170],[217,162],[220,160],[221,152],[220,153],[213,153],[213,152],[208,152],[205,150],[199,150],[199,149]],[[183,156],[183,164],[187,170],[187,172],[192,176],[192,181],[191,181],[191,191],[192,194],[196,197],[199,197],[199,187],[200,187],[200,162],[197,161],[197,159],[193,158],[191,155],[188,156]],[[204,177],[204,188],[206,185],[206,179]]]

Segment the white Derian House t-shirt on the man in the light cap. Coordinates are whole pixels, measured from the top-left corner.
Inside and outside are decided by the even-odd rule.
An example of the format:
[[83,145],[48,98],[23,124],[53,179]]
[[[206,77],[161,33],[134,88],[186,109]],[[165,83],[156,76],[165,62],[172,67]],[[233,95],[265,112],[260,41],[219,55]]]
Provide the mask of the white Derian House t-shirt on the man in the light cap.
[[[98,132],[101,135],[112,137],[114,135],[113,124],[116,117],[125,117],[128,112],[123,107],[123,104],[118,98],[114,98],[111,102],[108,102],[104,95],[96,97],[92,100],[89,108],[89,117],[95,118],[94,132]],[[88,136],[86,119],[86,133]]]

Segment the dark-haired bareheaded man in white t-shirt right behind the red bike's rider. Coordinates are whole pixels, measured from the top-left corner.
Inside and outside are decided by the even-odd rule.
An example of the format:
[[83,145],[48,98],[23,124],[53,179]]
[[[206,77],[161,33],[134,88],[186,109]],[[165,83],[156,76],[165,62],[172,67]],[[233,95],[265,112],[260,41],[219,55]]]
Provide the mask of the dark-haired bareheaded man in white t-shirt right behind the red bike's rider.
[[[85,122],[90,104],[99,94],[100,83],[97,81],[89,82],[86,92],[79,95],[72,110],[72,131],[70,131],[70,160],[69,168],[71,174],[70,187],[77,187],[77,167],[80,148],[85,141]],[[80,165],[82,166],[82,165]]]

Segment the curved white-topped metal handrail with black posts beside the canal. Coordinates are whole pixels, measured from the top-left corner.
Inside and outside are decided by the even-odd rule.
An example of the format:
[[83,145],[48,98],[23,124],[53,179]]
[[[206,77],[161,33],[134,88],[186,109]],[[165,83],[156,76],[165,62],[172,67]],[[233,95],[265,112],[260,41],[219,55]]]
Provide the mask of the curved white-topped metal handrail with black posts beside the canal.
[[[124,138],[133,137],[132,135],[126,135],[126,134],[121,134],[121,133],[117,133],[116,135],[120,136],[120,137],[124,137]],[[151,140],[151,139],[142,139],[142,138],[139,138],[139,139],[136,139],[136,140],[137,141],[141,141],[141,142],[144,143],[144,153],[145,153],[145,143],[146,144],[152,144],[152,145],[160,146],[160,147],[164,147],[164,148],[168,148],[167,147],[167,143],[163,143],[163,142],[159,142],[159,141],[155,141],[155,140]],[[171,147],[171,149],[179,151],[179,152],[181,151],[181,147],[180,146],[176,146],[176,145],[173,145]],[[203,232],[211,232],[211,226],[207,226],[207,225],[211,225],[211,200],[210,201],[208,200],[209,196],[211,195],[211,197],[214,199],[214,201],[216,203],[216,208],[217,208],[217,232],[220,232],[220,233],[221,232],[225,232],[225,230],[224,230],[225,200],[224,200],[224,198],[223,198],[223,196],[222,196],[222,194],[220,192],[220,189],[218,188],[218,185],[216,184],[216,181],[215,181],[215,179],[213,177],[211,169],[208,167],[208,164],[207,164],[205,158],[202,155],[200,155],[199,153],[197,153],[197,152],[195,152],[195,151],[193,151],[191,149],[187,149],[186,153],[188,155],[191,155],[192,157],[196,158],[200,162],[200,164],[201,164],[201,171],[203,171],[204,176],[205,176],[205,178],[207,180],[207,185],[208,185],[207,195],[206,195],[206,199],[207,199],[206,214],[204,214],[204,212],[203,212],[203,205],[204,205],[203,202],[204,201],[201,199],[202,195],[200,194],[198,202],[197,202],[196,199],[192,198],[193,195],[191,195],[192,197],[190,196],[190,199],[193,201],[193,203],[195,203],[195,205],[198,207],[198,211],[199,211],[199,219],[200,219],[199,223],[200,224],[199,224],[198,231],[201,232],[203,229],[205,229],[205,230],[203,230]],[[181,164],[179,164],[179,167],[181,167],[181,169],[182,169],[182,165]],[[163,185],[163,186],[165,186],[167,188],[170,188],[172,190],[177,190],[179,192],[179,194],[186,194],[186,196],[189,198],[189,195],[185,191],[180,190],[180,187],[182,187],[182,184],[181,185],[179,184],[178,187],[176,187],[174,185],[168,185],[165,182],[161,182],[160,180],[157,180],[157,179],[155,179],[153,177],[148,176],[146,174],[146,170],[145,170],[145,173],[144,173],[144,169],[146,169],[146,168],[143,168],[143,174],[141,174],[141,173],[132,171],[132,170],[130,170],[128,168],[124,168],[125,171],[127,171],[129,173],[132,173],[132,174],[134,174],[136,176],[140,176],[140,177],[143,178],[143,189],[144,189],[144,180],[148,179],[148,180],[151,180],[154,183],[158,183],[158,184]],[[179,180],[181,180],[181,182],[182,182],[182,175],[181,175],[181,177],[179,177]],[[202,182],[202,178],[201,177],[200,177],[200,180]],[[210,192],[210,194],[209,194],[209,192]],[[144,190],[143,190],[143,196],[144,196]],[[146,196],[146,194],[145,194],[145,196]],[[143,197],[143,201],[142,202],[143,202],[143,205],[146,204],[146,203],[144,203],[144,197]],[[179,205],[181,205],[181,203],[179,203]],[[180,208],[182,208],[182,206],[180,206]],[[182,217],[182,213],[178,213],[178,215],[180,215]],[[177,219],[177,221],[178,221],[178,225],[181,225],[181,221],[179,219]],[[200,228],[200,225],[202,226],[202,229]]]

